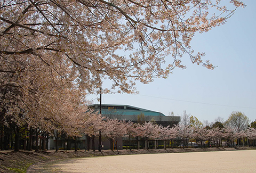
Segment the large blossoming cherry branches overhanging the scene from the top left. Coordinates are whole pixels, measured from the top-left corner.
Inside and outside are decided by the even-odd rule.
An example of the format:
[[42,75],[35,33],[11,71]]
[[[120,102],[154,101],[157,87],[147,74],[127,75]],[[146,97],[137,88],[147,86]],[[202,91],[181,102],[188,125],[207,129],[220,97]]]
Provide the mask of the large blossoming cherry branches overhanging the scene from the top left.
[[[92,92],[102,79],[111,88],[134,92],[134,80],[166,78],[181,56],[213,69],[204,53],[190,46],[195,32],[225,23],[239,6],[230,1],[3,1],[1,2],[1,73],[23,73],[22,63],[40,61],[61,72],[57,59],[79,73],[77,83]],[[213,12],[213,13],[212,13]],[[120,55],[127,52],[127,56]],[[173,57],[173,59],[167,59]],[[166,59],[165,59],[166,58]],[[10,65],[11,64],[11,65]],[[61,74],[61,73],[60,73]],[[5,81],[2,85],[13,85]]]

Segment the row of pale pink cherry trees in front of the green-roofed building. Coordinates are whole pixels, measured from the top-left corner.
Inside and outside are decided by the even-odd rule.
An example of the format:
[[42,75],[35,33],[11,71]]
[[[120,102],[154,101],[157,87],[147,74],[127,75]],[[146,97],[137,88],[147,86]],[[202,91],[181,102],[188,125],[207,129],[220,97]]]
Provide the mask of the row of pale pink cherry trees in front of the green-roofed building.
[[[97,117],[98,115],[95,116]],[[225,141],[228,146],[234,146],[235,141],[237,145],[239,145],[239,141],[242,141],[244,145],[245,138],[247,139],[247,145],[249,145],[248,139],[256,139],[255,128],[236,130],[229,126],[225,128],[213,126],[210,128],[209,126],[186,126],[182,123],[174,127],[163,127],[154,122],[144,122],[140,124],[131,121],[119,121],[117,119],[104,120],[102,117],[94,123],[95,126],[93,125],[93,122],[91,122],[91,125],[93,125],[91,126],[92,128],[86,128],[91,129],[91,131],[86,131],[87,135],[93,138],[96,136],[98,137],[99,131],[102,131],[102,135],[106,136],[110,142],[117,142],[117,138],[125,137],[129,140],[130,145],[131,140],[137,139],[137,142],[139,142],[138,139],[143,139],[145,140],[146,149],[148,149],[148,140],[163,141],[165,149],[167,141],[177,141],[177,139],[183,141],[183,144],[186,144],[188,141],[196,141],[201,146],[203,146],[206,141],[209,146],[222,146],[223,141]],[[137,146],[139,146],[139,144]]]

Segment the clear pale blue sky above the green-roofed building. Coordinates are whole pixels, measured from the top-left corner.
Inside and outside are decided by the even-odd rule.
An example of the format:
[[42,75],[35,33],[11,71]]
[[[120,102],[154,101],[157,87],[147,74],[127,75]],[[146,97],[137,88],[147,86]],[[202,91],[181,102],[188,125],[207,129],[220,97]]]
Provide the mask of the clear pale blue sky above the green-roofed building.
[[155,79],[147,85],[137,83],[139,95],[103,95],[102,104],[133,105],[165,115],[173,111],[177,116],[186,110],[199,120],[210,122],[217,117],[226,120],[232,111],[241,111],[255,120],[256,1],[244,2],[245,9],[237,9],[226,24],[196,34],[191,42],[195,52],[205,52],[204,60],[218,68],[207,70],[192,64],[184,55],[186,70],[174,69],[168,79]]

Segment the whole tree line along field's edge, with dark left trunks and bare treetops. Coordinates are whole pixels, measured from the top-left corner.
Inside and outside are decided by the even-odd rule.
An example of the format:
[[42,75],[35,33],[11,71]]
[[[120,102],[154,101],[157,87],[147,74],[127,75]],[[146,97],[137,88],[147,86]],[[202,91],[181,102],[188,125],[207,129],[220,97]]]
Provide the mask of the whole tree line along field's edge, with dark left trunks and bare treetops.
[[[241,123],[234,124],[233,121]],[[182,121],[173,127],[163,127],[154,120],[134,123],[132,121],[127,122],[125,120],[102,117],[98,112],[91,112],[90,117],[84,119],[81,126],[72,128],[76,130],[76,135],[69,136],[63,130],[55,130],[52,136],[56,139],[56,151],[58,151],[59,138],[64,141],[73,141],[75,143],[74,150],[77,151],[77,140],[82,136],[87,136],[87,142],[89,142],[87,143],[87,150],[90,150],[91,139],[92,150],[95,151],[94,141],[99,138],[100,133],[103,138],[109,140],[110,146],[115,144],[116,150],[119,138],[129,141],[130,150],[132,149],[131,142],[134,143],[134,141],[137,142],[137,149],[140,149],[140,142],[145,142],[145,149],[149,149],[149,141],[162,141],[164,149],[166,149],[167,142],[171,142],[172,147],[178,147],[180,144],[182,144],[180,145],[182,147],[188,147],[188,144],[192,142],[196,142],[196,146],[200,147],[254,146],[256,139],[255,124],[256,120],[249,125],[249,119],[241,112],[232,112],[227,121],[223,123],[216,121],[211,125],[203,125],[196,117],[190,116],[185,112]],[[2,150],[14,148],[15,151],[20,149],[38,151],[47,149],[49,133],[39,129],[28,130],[27,127],[23,127],[17,135],[17,131],[14,131],[15,128],[11,130],[11,127],[3,127],[0,141]],[[113,150],[113,147],[111,147],[111,150]]]

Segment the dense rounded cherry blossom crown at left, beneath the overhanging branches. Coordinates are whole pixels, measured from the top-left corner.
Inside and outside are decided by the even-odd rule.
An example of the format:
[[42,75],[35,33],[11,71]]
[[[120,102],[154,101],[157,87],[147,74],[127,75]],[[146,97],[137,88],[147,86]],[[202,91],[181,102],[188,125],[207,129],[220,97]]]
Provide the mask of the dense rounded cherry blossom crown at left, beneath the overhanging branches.
[[[42,72],[27,72],[26,77],[21,78],[18,77],[19,74],[14,74],[9,78],[13,80],[13,86],[5,85],[1,88],[2,119],[7,125],[15,122],[17,136],[18,128],[24,125],[52,134],[56,134],[56,131],[53,133],[54,130],[64,130],[69,135],[77,134],[75,123],[82,122],[80,120],[84,119],[84,112],[87,110],[83,92],[72,84],[71,75],[67,79],[61,79],[50,75],[53,71],[44,69],[43,64],[35,64],[33,68],[35,71],[40,68]],[[49,76],[44,77],[43,73]],[[25,81],[27,86],[24,85]],[[74,129],[70,130],[70,127]]]

